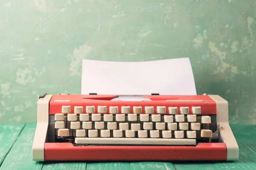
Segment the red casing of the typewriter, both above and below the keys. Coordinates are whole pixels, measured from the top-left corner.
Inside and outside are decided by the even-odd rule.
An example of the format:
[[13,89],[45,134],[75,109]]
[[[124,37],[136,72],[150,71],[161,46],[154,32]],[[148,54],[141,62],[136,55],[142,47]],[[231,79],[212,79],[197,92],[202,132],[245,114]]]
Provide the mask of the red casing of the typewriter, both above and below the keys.
[[[62,105],[74,106],[145,106],[189,107],[201,106],[201,115],[216,115],[217,104],[207,95],[195,96],[144,96],[152,101],[111,101],[117,95],[53,95],[49,103],[49,114],[61,113]],[[172,100],[172,102],[167,102]],[[188,102],[189,100],[189,102]],[[97,113],[97,107],[95,107]],[[107,110],[108,113],[108,110]],[[168,112],[166,112],[168,114]],[[227,160],[225,143],[198,143],[196,146],[73,146],[72,143],[45,143],[45,161],[175,161],[175,160]]]

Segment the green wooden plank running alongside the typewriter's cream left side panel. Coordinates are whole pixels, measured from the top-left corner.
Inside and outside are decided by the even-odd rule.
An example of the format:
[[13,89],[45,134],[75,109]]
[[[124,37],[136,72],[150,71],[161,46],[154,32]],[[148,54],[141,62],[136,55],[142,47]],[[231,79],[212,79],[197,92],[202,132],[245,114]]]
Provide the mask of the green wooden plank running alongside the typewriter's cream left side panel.
[[42,162],[32,161],[32,143],[36,123],[28,123],[23,128],[12,149],[3,161],[1,170],[41,170]]

